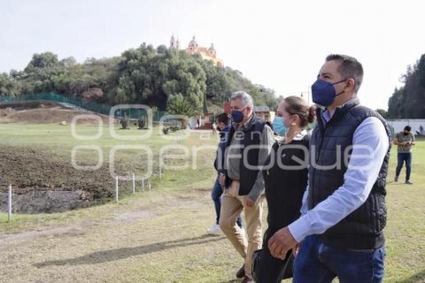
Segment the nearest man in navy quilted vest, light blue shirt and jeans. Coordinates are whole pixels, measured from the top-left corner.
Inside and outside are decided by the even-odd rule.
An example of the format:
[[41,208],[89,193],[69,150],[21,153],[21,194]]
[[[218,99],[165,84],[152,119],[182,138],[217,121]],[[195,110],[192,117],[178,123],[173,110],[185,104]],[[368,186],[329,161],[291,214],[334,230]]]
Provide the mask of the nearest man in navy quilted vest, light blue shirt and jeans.
[[[389,130],[359,104],[363,77],[353,57],[331,54],[311,86],[317,126],[310,139],[301,216],[277,231],[273,256],[297,252],[294,282],[381,282]],[[299,243],[299,244],[298,244]]]

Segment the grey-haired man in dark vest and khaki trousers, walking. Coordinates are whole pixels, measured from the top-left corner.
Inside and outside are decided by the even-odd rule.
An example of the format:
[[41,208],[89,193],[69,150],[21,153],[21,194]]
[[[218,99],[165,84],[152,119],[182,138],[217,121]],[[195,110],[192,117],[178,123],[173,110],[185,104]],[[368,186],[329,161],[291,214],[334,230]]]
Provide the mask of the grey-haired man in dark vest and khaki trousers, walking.
[[[225,185],[220,210],[221,230],[244,259],[242,282],[253,282],[252,253],[261,248],[261,215],[264,199],[264,179],[261,166],[274,143],[273,132],[265,121],[255,116],[252,97],[244,91],[231,95],[232,127],[224,156]],[[246,236],[236,225],[236,218],[244,210]],[[243,270],[242,269],[242,270]],[[244,273],[244,274],[243,274]]]

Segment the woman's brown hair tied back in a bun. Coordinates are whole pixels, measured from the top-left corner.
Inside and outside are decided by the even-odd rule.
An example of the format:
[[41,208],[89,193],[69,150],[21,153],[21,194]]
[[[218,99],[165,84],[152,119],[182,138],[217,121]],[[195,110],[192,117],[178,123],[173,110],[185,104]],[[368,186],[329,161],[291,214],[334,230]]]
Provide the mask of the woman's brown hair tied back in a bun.
[[293,95],[285,97],[283,101],[286,102],[285,110],[289,115],[298,115],[301,127],[315,121],[316,107],[314,105],[308,107],[304,99]]

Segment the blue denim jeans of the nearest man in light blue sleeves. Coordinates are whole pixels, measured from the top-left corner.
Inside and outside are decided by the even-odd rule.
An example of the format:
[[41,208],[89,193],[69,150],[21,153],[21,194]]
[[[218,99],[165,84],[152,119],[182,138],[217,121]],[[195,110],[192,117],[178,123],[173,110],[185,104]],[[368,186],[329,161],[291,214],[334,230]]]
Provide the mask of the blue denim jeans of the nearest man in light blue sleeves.
[[331,247],[316,235],[307,236],[295,257],[293,282],[382,282],[385,247],[349,250]]

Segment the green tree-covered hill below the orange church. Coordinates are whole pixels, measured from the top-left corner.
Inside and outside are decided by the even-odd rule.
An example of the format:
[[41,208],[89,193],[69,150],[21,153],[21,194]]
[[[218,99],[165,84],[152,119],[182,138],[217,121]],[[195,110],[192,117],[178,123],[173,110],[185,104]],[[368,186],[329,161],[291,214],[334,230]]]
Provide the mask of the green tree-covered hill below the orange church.
[[206,106],[220,106],[235,90],[250,93],[255,104],[271,109],[277,105],[272,89],[254,85],[240,71],[164,45],[155,49],[143,43],[121,56],[87,58],[83,63],[44,52],[33,54],[23,70],[0,73],[0,95],[51,91],[101,103],[143,103],[160,110],[182,96],[194,110],[204,111]]

